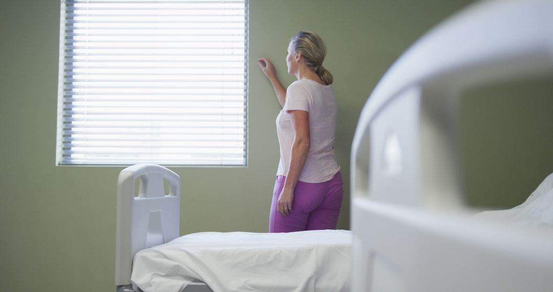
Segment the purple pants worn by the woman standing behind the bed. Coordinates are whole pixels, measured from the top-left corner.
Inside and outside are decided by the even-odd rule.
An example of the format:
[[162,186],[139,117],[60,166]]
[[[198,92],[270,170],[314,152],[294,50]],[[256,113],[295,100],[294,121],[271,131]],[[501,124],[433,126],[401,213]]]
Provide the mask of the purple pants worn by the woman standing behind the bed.
[[269,213],[269,232],[336,229],[343,195],[340,172],[331,180],[316,184],[298,181],[294,189],[292,211],[286,217],[276,211],[276,202],[285,181],[285,176],[276,176]]

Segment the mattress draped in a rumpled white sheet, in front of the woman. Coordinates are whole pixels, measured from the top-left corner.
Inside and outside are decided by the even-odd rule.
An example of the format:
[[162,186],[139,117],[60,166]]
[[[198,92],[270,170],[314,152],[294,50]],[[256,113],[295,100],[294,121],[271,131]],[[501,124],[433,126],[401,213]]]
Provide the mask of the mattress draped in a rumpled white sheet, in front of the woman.
[[349,291],[351,231],[202,232],[134,257],[131,281],[149,291],[182,291],[192,280],[223,291]]

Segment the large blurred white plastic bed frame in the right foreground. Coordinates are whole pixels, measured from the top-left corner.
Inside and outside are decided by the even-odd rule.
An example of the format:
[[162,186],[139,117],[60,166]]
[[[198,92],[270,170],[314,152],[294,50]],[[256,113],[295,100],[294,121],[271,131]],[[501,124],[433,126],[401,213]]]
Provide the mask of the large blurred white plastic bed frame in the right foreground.
[[353,291],[553,291],[551,230],[463,205],[453,127],[463,90],[552,72],[551,0],[477,3],[390,67],[352,145]]

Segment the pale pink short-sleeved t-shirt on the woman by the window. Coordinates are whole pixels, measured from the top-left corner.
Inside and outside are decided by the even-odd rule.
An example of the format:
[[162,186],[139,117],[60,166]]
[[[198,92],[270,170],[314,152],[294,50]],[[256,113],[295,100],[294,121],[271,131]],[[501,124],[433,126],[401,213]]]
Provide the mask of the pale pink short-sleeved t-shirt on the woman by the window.
[[286,111],[300,109],[309,112],[311,147],[301,170],[300,181],[324,182],[340,171],[334,154],[336,131],[336,96],[330,85],[301,79],[288,86],[286,102],[276,117],[276,133],[280,144],[280,163],[276,175],[288,175],[294,129]]

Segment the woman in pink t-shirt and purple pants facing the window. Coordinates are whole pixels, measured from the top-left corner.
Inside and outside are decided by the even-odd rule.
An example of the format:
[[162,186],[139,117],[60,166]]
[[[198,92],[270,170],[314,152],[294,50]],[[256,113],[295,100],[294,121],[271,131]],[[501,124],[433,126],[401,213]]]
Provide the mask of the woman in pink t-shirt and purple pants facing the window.
[[319,35],[300,32],[290,41],[286,64],[298,79],[288,89],[267,58],[258,64],[283,109],[276,117],[280,163],[269,232],[335,229],[342,206],[340,165],[334,154],[336,96],[323,66]]

